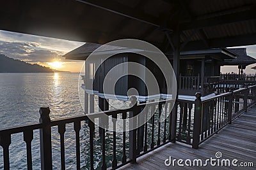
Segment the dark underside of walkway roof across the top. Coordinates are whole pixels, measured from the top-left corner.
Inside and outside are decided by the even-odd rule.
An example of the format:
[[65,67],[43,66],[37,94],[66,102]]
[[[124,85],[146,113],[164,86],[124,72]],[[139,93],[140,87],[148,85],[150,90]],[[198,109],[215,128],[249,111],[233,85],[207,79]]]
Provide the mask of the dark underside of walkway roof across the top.
[[0,29],[90,43],[134,38],[171,51],[179,25],[183,51],[256,44],[256,1],[8,0]]

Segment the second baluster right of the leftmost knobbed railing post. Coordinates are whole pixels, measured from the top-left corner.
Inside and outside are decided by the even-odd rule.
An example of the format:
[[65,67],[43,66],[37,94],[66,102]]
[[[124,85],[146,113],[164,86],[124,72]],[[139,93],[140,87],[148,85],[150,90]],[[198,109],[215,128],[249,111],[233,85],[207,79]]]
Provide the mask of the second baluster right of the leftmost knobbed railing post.
[[76,132],[76,169],[80,169],[80,138],[79,132],[81,129],[81,122],[74,122],[74,131]]

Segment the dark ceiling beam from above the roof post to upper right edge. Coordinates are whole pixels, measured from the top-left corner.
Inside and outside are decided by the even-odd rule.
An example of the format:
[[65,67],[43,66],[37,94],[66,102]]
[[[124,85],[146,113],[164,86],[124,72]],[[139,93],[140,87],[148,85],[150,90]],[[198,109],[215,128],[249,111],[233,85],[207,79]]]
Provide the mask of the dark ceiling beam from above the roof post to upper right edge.
[[204,27],[212,27],[216,25],[230,24],[234,22],[242,22],[246,20],[255,20],[256,10],[251,8],[251,10],[240,11],[237,13],[228,13],[226,15],[218,15],[212,18],[198,19],[191,22],[185,22],[180,24],[180,30],[188,29],[202,29]]

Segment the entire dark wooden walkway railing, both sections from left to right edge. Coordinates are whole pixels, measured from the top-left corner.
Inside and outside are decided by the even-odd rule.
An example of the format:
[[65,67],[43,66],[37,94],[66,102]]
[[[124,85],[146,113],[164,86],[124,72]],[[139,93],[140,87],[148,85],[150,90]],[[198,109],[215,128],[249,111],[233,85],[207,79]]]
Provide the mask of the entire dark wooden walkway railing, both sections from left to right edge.
[[[198,148],[200,143],[220,131],[225,125],[230,124],[232,120],[241,115],[248,108],[256,103],[256,85],[234,90],[211,97],[209,99],[201,99],[201,94],[196,94],[195,101],[177,100],[174,111],[170,111],[173,100],[152,102],[152,103],[132,103],[132,107],[125,110],[109,110],[104,114],[109,117],[123,119],[124,132],[115,132],[116,121],[113,119],[113,140],[111,144],[111,164],[106,159],[106,130],[100,128],[101,140],[101,169],[116,169],[124,166],[129,162],[136,162],[136,158],[151,152],[152,150],[162,146],[170,141],[180,141]],[[134,102],[134,101],[133,101]],[[168,109],[169,108],[169,109]],[[133,124],[141,119],[150,120],[141,127],[133,129],[129,132],[125,131],[127,118],[134,117],[145,111],[143,117],[138,117]],[[156,110],[156,111],[155,111]],[[177,114],[175,113],[177,110]],[[159,121],[161,115],[170,113],[170,117],[163,122]],[[74,138],[76,139],[76,168],[80,169],[80,138],[81,122],[88,122],[90,128],[90,169],[94,169],[95,162],[95,124],[93,119],[99,119],[103,113],[90,113],[89,115],[81,115],[76,117],[67,117],[51,120],[49,117],[49,108],[40,108],[40,122],[38,124],[23,125],[12,127],[10,129],[0,129],[0,145],[3,148],[4,169],[10,169],[9,146],[11,144],[11,135],[22,133],[26,142],[27,167],[32,169],[32,152],[31,142],[36,129],[40,129],[40,147],[41,169],[52,169],[52,127],[58,127],[60,134],[60,158],[61,169],[65,169],[65,131],[67,124],[74,126]],[[152,115],[153,114],[153,115]],[[90,118],[89,118],[90,117]],[[122,148],[117,148],[116,135],[122,138]],[[174,134],[174,135],[173,135]],[[40,146],[39,146],[40,145]],[[129,145],[129,147],[128,147]],[[128,150],[127,150],[128,147]],[[12,151],[11,151],[12,152]],[[122,159],[117,159],[117,153],[122,153]],[[120,154],[119,154],[120,155]]]

